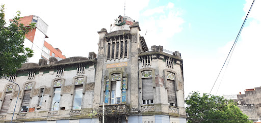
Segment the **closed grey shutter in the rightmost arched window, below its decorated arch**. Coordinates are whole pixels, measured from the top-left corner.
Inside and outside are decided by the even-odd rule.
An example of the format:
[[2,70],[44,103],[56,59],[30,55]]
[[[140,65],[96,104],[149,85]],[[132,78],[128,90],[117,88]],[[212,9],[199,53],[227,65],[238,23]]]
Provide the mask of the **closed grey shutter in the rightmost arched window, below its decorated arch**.
[[176,89],[175,89],[175,81],[168,79],[168,102],[176,104]]

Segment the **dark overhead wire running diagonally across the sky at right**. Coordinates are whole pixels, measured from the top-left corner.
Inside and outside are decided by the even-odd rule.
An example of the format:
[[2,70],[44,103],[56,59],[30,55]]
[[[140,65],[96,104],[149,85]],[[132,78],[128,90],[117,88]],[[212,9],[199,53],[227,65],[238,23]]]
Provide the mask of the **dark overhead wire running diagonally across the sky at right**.
[[[248,13],[247,13],[247,16],[246,16],[246,18],[245,18],[245,20],[244,20],[244,22],[243,22],[243,24],[242,24],[242,26],[241,26],[241,28],[240,28],[240,30],[239,30],[238,36],[237,36],[236,40],[234,41],[234,43],[233,43],[233,45],[232,45],[232,47],[231,47],[231,49],[230,49],[230,51],[229,51],[229,53],[228,53],[228,55],[227,55],[227,57],[226,57],[226,60],[227,60],[228,56],[230,55],[230,52],[231,52],[231,51],[232,51],[232,52],[231,52],[230,57],[232,56],[233,49],[234,49],[234,47],[236,47],[237,41],[238,41],[238,39],[239,39],[239,36],[240,36],[240,34],[241,34],[241,32],[242,32],[242,29],[243,29],[243,27],[244,27],[244,25],[245,25],[245,22],[246,22],[247,17],[248,17],[248,15],[249,15],[249,13],[250,13],[250,11],[251,11],[251,9],[252,9],[252,6],[253,6],[254,2],[255,2],[255,0],[253,0],[253,3],[252,3],[252,5],[251,5],[251,7],[250,7],[250,9],[249,9],[249,11],[248,11]],[[220,70],[220,72],[219,72],[219,74],[218,74],[218,77],[219,77],[219,75],[220,75],[220,73],[221,73],[221,71],[222,71],[222,69],[223,69],[223,67],[224,67],[224,65],[225,65],[225,63],[226,63],[226,60],[225,60],[223,66],[222,66],[222,68],[221,68],[221,70]],[[229,60],[230,60],[230,58],[229,58]],[[228,63],[229,63],[229,61],[228,61]],[[227,66],[228,66],[228,63],[227,63]],[[213,87],[215,86],[215,84],[216,84],[216,82],[217,82],[217,80],[218,80],[218,77],[217,77],[215,83],[213,84],[213,86],[212,86],[212,88],[211,88],[211,90],[210,90],[210,93],[209,93],[208,95],[211,94],[211,91],[212,91]]]

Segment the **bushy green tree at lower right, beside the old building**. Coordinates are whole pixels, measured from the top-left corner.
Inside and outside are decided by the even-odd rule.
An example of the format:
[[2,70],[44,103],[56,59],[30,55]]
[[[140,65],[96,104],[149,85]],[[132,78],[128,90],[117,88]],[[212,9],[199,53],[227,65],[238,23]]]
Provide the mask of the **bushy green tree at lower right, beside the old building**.
[[185,102],[188,122],[252,122],[237,103],[224,97],[192,92]]

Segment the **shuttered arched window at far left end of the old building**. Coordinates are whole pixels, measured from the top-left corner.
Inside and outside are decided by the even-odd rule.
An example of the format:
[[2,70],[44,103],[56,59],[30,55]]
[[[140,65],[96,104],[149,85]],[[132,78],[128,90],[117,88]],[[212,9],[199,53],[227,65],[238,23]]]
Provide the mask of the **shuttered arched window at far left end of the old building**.
[[12,98],[12,91],[14,90],[14,85],[7,85],[5,88],[5,95],[4,101],[0,110],[0,114],[7,114],[10,103],[11,103],[11,98]]

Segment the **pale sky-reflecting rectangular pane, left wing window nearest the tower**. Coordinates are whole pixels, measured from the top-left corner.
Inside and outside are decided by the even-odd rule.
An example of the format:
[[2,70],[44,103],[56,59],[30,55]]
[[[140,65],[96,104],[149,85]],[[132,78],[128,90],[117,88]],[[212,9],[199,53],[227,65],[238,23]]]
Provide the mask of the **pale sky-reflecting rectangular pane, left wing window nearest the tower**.
[[82,108],[82,99],[83,99],[83,85],[76,85],[74,91],[73,109]]

